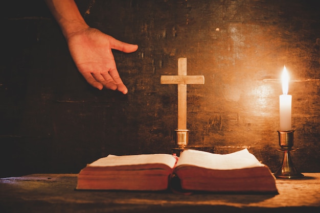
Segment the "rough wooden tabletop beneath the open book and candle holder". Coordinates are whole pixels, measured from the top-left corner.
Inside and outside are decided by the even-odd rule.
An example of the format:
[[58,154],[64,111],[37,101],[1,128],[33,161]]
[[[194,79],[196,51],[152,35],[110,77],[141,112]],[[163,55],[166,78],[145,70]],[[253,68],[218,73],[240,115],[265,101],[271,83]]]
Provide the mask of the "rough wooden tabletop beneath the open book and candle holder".
[[318,212],[320,173],[277,179],[279,195],[76,191],[76,174],[0,179],[0,212]]

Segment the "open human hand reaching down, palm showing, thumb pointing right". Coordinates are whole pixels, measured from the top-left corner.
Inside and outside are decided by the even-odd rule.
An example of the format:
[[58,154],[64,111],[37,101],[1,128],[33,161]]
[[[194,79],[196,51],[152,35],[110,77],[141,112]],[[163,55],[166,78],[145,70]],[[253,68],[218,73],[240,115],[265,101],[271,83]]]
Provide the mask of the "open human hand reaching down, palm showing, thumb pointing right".
[[111,49],[132,53],[138,45],[119,41],[94,28],[85,28],[66,38],[71,56],[86,81],[98,89],[103,87],[128,92],[122,82]]

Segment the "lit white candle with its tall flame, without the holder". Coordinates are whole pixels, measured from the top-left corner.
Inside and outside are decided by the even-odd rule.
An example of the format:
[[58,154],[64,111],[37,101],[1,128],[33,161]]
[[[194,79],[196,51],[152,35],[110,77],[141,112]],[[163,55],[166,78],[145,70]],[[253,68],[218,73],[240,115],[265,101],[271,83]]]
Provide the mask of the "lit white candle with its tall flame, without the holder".
[[291,130],[291,99],[288,94],[289,87],[289,74],[286,66],[283,68],[282,73],[282,92],[280,96],[280,131]]

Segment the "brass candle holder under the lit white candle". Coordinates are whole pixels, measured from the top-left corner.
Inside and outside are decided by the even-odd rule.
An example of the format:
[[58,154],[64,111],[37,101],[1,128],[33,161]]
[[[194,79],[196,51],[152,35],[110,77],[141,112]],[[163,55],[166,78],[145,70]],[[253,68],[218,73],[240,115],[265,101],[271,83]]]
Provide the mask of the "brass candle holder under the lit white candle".
[[294,152],[299,148],[292,149],[293,147],[293,132],[294,130],[290,131],[278,131],[279,134],[279,145],[281,149],[277,149],[279,152],[283,152],[283,162],[282,167],[274,173],[276,178],[287,178],[287,179],[297,179],[303,178],[304,175],[298,172],[291,160],[290,152]]

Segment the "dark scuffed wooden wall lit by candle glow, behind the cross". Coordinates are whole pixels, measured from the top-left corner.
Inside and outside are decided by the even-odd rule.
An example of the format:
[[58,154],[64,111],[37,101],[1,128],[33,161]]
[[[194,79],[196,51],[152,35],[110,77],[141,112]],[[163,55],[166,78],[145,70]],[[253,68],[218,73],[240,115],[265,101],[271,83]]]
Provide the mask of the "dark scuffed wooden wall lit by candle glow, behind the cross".
[[[320,13],[314,1],[79,0],[87,23],[139,44],[114,51],[129,92],[99,91],[78,73],[42,1],[6,1],[1,14],[0,176],[77,173],[112,154],[171,153],[177,74],[188,86],[190,147],[248,147],[278,169],[279,81],[291,76],[295,166],[320,172]],[[226,148],[230,147],[230,148]]]

